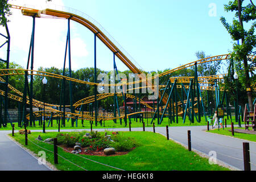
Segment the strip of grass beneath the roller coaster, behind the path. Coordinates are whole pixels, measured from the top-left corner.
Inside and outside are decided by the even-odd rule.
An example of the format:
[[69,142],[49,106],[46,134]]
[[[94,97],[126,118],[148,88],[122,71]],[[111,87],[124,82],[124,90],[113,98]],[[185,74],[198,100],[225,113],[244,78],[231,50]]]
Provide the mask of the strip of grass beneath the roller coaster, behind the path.
[[[226,117],[225,117],[226,118]],[[224,119],[225,119],[224,118]],[[152,127],[153,125],[151,125],[151,121],[152,119],[151,118],[148,118],[148,119],[143,119],[143,122],[145,123],[145,127]],[[233,122],[234,122],[234,119],[233,119]],[[27,129],[30,129],[30,130],[42,130],[42,126],[39,126],[39,122],[36,121],[36,126],[27,126]],[[155,123],[155,126],[156,127],[165,127],[166,125],[169,125],[169,126],[202,126],[202,125],[207,125],[207,122],[205,121],[205,118],[202,117],[201,118],[201,122],[197,122],[196,121],[196,118],[195,118],[195,122],[194,123],[191,123],[189,120],[188,120],[188,117],[185,121],[185,123],[183,123],[183,119],[182,117],[179,117],[178,118],[178,123],[176,122],[176,118],[175,118],[175,122],[170,122],[170,120],[168,118],[163,118],[163,121],[160,125],[158,125],[158,121],[157,119],[155,119],[154,121]],[[20,129],[20,127],[18,127],[18,123],[14,123],[15,124],[15,129],[18,130]],[[68,121],[65,122],[65,127],[61,127],[61,129],[90,129],[90,121],[84,121],[84,127],[82,127],[82,123],[81,123],[81,120],[79,119],[77,121],[77,127],[76,127],[76,122],[74,123],[74,127],[72,127],[71,125],[71,119]],[[227,124],[230,125],[231,124],[231,120],[229,118],[229,120],[227,119]],[[236,123],[235,123],[236,124]],[[141,119],[141,122],[139,121],[139,119],[136,121],[134,118],[131,118],[131,127],[142,127],[142,119]],[[109,120],[109,121],[105,121],[103,122],[102,121],[102,124],[98,123],[97,126],[95,126],[95,122],[93,122],[93,129],[108,129],[108,128],[123,128],[123,127],[129,127],[129,120],[127,119],[127,126],[125,126],[125,122],[124,120],[122,119],[122,125],[120,124],[120,121],[119,119],[117,119],[117,123],[114,123],[112,120]],[[46,130],[47,129],[53,129],[53,130],[57,130],[58,129],[58,125],[57,125],[57,121],[56,120],[53,120],[53,125],[51,126],[51,124],[49,125],[48,127],[48,122],[46,122]],[[11,130],[11,125],[10,123],[7,124],[7,127],[2,127],[0,130]]]

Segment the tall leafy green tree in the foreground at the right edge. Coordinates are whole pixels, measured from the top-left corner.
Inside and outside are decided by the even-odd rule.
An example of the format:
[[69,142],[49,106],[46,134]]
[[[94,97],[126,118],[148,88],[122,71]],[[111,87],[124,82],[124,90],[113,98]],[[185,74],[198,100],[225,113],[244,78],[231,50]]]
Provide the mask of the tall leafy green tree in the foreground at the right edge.
[[[254,35],[254,29],[256,27],[256,22],[254,21],[256,18],[256,9],[252,1],[248,5],[242,6],[243,1],[244,0],[233,0],[229,1],[228,5],[224,5],[225,11],[235,12],[232,25],[227,23],[223,16],[220,20],[235,42],[233,44],[233,52],[231,53],[234,61],[234,69],[236,69],[240,77],[239,80],[241,84],[247,90],[249,107],[253,109],[251,82],[255,80],[255,75],[252,74],[250,78],[249,72],[253,73],[255,60],[249,59],[248,56],[251,53],[255,53],[253,50],[256,45],[256,36]],[[249,30],[245,30],[243,26],[244,23],[251,23]],[[241,45],[239,44],[239,40],[241,40]]]

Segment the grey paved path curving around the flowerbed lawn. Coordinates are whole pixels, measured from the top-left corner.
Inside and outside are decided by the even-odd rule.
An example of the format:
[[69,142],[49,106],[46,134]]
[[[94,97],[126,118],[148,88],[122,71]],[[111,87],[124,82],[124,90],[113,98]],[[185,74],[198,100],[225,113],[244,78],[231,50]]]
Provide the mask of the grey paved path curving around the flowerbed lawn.
[[[205,132],[206,127],[207,126],[169,127],[169,136],[170,139],[187,146],[187,131],[191,130],[192,150],[199,151],[205,155],[209,155],[210,151],[215,151],[218,160],[238,170],[243,170],[242,143],[249,142],[251,170],[256,171],[256,142],[207,133]],[[90,131],[89,129],[85,130]],[[129,131],[129,128],[107,130]],[[152,127],[146,127],[145,130],[152,131]],[[40,132],[42,130],[32,131]],[[83,129],[61,131],[83,131]],[[105,129],[97,129],[97,131],[105,131]],[[131,131],[142,131],[142,128],[131,128]],[[166,136],[166,127],[156,127],[155,131],[156,133]],[[0,170],[49,170],[47,167],[39,165],[36,159],[6,137],[8,133],[11,133],[11,131],[0,131]],[[24,163],[24,161],[26,163]]]

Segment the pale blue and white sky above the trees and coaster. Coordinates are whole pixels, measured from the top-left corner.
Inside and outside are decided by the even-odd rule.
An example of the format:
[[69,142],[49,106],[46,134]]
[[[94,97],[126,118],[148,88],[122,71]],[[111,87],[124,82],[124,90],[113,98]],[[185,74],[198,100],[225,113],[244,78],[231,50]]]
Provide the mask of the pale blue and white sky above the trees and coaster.
[[[176,68],[196,61],[195,52],[216,56],[232,51],[233,41],[220,22],[228,0],[9,0],[13,5],[69,7],[89,15],[119,43],[144,71]],[[247,3],[249,1],[245,1]],[[32,18],[11,9],[8,23],[11,35],[10,61],[26,68],[32,32]],[[34,69],[63,68],[68,20],[36,18]],[[0,27],[5,34],[5,28]],[[0,42],[4,43],[1,38]],[[0,49],[6,57],[6,46]],[[117,68],[128,68],[118,59]],[[94,35],[86,27],[71,21],[71,67],[94,67]],[[68,63],[68,62],[67,62]],[[68,68],[68,64],[66,64]],[[97,39],[97,68],[113,69],[113,53]]]

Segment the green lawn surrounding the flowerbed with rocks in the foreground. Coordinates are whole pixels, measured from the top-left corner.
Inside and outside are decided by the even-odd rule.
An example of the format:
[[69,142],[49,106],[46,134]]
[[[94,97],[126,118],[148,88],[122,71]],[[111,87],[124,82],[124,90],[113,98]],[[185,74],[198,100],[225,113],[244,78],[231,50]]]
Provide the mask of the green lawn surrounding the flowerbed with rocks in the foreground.
[[[151,132],[121,132],[127,137],[133,137],[137,140],[139,147],[130,151],[126,155],[118,156],[90,156],[81,155],[85,158],[95,160],[100,163],[108,164],[109,166],[117,167],[124,170],[131,171],[222,171],[229,170],[218,166],[216,164],[210,165],[207,158],[201,158],[193,151],[188,151],[186,148],[167,140],[166,137],[157,133]],[[43,139],[54,138],[58,133],[34,133],[28,135],[28,139],[32,140],[39,146],[46,148],[47,150],[53,151],[53,145],[39,142],[35,140],[38,135],[41,135]],[[64,134],[64,133],[63,133]],[[10,134],[11,136],[11,134]],[[13,137],[16,141],[24,146],[24,135],[15,133]],[[42,151],[35,144],[28,140],[28,146],[31,151],[38,154]],[[71,162],[81,166],[82,168],[88,169],[89,171],[113,171],[110,167],[102,166],[101,164],[91,162],[74,154],[70,154],[58,148],[59,155],[70,160]],[[47,160],[53,164],[53,154],[46,151]],[[59,164],[55,164],[56,168],[65,171],[82,170],[76,167],[74,164],[67,162],[59,157]]]

